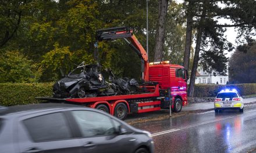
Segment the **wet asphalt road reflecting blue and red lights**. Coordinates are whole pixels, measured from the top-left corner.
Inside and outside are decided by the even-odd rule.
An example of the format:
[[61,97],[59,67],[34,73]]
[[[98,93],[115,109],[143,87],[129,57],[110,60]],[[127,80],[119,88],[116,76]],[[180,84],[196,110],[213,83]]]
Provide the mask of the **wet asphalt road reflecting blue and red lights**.
[[248,152],[256,148],[256,105],[133,125],[151,132],[155,152]]

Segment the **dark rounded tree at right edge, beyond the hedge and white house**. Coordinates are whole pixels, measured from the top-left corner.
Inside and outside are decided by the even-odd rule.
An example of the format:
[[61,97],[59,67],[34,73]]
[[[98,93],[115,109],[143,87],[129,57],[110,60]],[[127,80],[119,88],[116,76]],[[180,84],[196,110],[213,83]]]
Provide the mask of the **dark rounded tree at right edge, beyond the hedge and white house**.
[[256,83],[256,43],[243,47],[246,52],[238,48],[230,57],[230,83]]

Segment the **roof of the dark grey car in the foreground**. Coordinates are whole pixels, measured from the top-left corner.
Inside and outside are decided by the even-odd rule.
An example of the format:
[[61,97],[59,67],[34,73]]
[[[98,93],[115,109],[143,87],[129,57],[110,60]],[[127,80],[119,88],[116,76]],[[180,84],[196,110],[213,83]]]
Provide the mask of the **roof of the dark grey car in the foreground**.
[[72,108],[81,107],[80,105],[72,104],[58,104],[58,103],[45,103],[45,104],[28,104],[28,105],[15,105],[10,107],[0,107],[0,115],[15,114],[23,111],[47,110],[54,108]]

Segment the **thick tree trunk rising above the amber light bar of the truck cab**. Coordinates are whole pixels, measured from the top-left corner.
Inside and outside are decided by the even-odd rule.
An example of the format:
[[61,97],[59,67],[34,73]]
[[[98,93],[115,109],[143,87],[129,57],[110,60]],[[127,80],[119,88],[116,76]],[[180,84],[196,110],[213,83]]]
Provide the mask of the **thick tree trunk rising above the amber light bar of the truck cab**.
[[163,43],[165,40],[165,18],[167,14],[168,0],[158,0],[158,28],[155,37],[154,61],[163,59]]

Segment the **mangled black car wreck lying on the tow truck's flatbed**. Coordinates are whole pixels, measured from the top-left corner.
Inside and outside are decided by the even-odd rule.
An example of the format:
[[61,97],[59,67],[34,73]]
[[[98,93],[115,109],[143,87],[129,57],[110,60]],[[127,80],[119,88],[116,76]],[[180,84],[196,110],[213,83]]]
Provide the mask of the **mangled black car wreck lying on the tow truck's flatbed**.
[[81,63],[64,78],[54,84],[53,96],[56,98],[84,98],[132,94],[137,91],[135,79],[116,78],[111,71],[111,83],[106,82],[97,64]]

